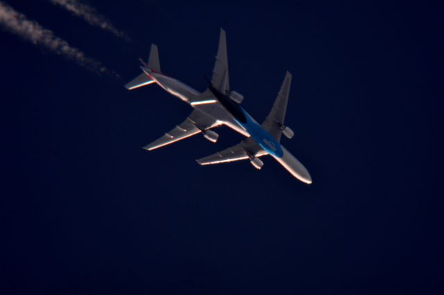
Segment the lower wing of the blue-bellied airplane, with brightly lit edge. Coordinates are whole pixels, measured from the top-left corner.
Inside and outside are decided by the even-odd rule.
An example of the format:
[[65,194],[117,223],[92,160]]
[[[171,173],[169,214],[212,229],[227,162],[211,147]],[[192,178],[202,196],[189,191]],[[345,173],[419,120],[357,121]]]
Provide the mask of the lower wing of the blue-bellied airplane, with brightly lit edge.
[[197,161],[200,165],[212,165],[228,163],[233,161],[248,160],[254,157],[262,157],[268,154],[253,139],[247,138],[241,143],[228,147],[221,152],[216,152],[208,157],[200,158]]

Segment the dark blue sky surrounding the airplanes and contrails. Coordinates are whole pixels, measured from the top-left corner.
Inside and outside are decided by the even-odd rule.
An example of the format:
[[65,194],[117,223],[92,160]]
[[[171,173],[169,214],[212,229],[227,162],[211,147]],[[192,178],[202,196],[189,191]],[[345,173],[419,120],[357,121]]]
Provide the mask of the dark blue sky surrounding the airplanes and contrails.
[[[0,31],[0,292],[442,292],[441,1],[94,1],[131,44],[7,2],[123,80]],[[221,27],[259,122],[293,73],[282,143],[311,186],[273,159],[198,166],[241,140],[225,127],[142,150],[191,108],[126,91],[137,57],[157,44],[162,71],[202,91]]]

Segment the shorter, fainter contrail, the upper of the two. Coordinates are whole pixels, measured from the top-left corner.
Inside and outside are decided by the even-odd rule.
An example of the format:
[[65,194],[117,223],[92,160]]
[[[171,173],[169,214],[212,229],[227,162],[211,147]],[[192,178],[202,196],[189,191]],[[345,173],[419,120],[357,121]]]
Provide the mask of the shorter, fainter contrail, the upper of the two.
[[97,12],[92,6],[87,5],[87,3],[82,3],[78,0],[49,1],[51,1],[54,5],[62,6],[62,8],[65,8],[76,17],[83,18],[85,21],[87,21],[88,24],[92,26],[98,26],[103,30],[108,30],[108,32],[116,35],[117,37],[130,42],[130,38],[125,33],[123,33],[123,31],[117,30],[117,28],[113,24],[111,24],[111,22],[106,17],[100,15],[99,12]]

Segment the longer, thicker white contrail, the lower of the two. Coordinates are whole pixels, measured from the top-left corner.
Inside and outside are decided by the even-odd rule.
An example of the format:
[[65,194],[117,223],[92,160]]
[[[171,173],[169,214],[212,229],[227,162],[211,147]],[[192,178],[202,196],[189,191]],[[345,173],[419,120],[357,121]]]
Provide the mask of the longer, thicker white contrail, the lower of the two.
[[30,20],[26,15],[17,12],[6,3],[0,2],[0,24],[10,33],[19,35],[32,44],[42,46],[53,53],[74,60],[80,66],[99,75],[110,75],[112,78],[119,79],[119,75],[107,69],[100,62],[85,56],[85,53],[78,48],[70,46],[65,40],[54,35],[51,30],[47,30]]

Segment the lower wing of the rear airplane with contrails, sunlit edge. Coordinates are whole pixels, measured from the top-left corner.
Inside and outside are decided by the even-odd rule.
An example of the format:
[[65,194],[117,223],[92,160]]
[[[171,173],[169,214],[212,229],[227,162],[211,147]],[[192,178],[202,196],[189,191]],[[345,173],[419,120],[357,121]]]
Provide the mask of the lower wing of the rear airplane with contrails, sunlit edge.
[[196,135],[203,130],[210,129],[217,125],[218,123],[216,123],[212,117],[203,114],[203,112],[198,109],[194,109],[185,121],[171,129],[170,132],[165,133],[165,135],[157,139],[157,141],[144,146],[144,149],[155,150],[158,147],[175,143],[176,141]]

